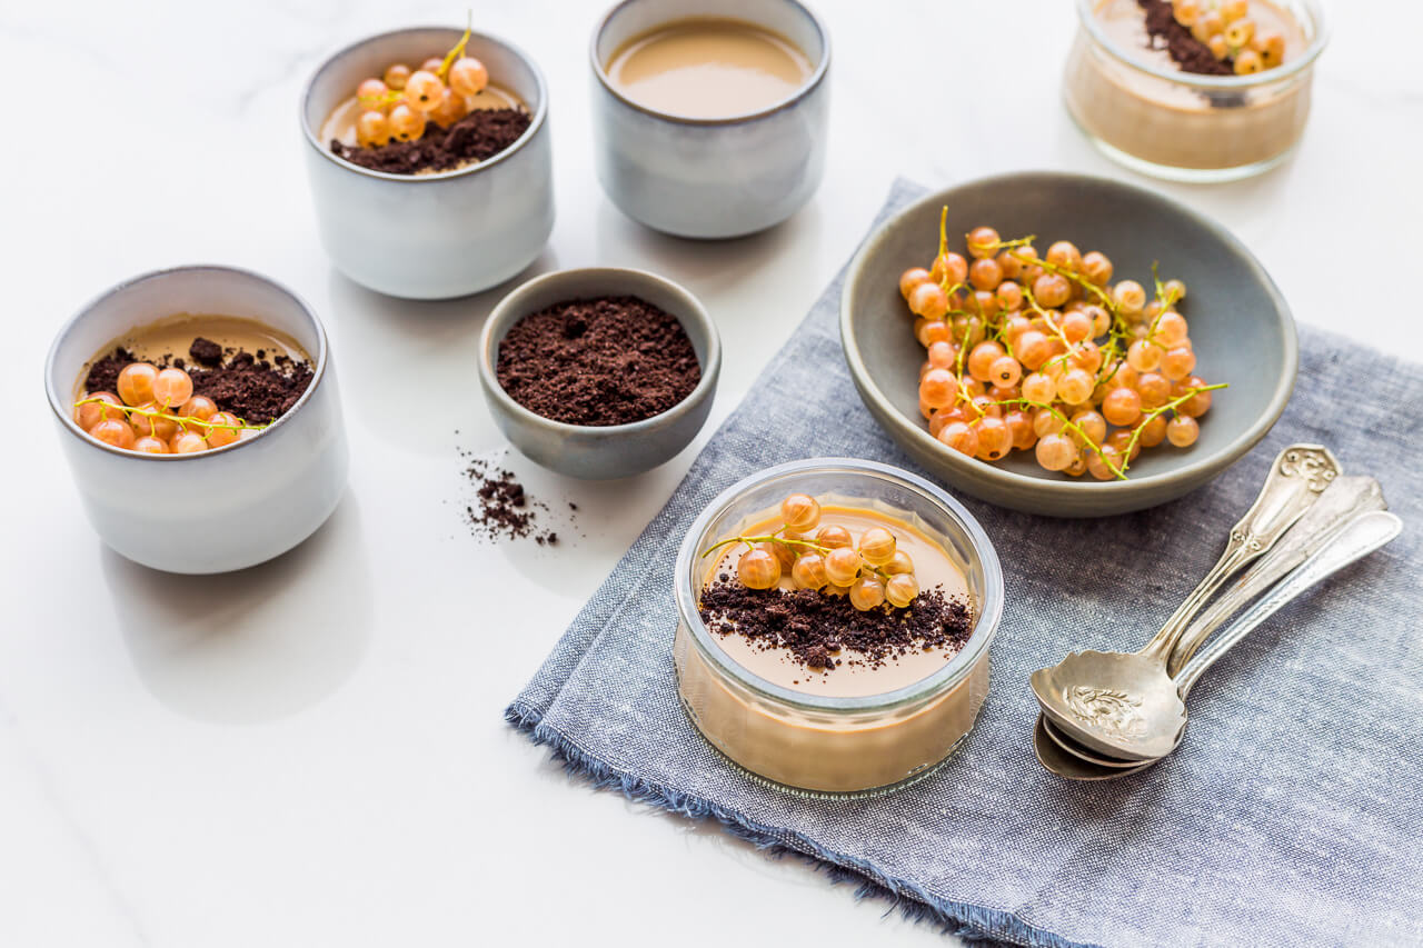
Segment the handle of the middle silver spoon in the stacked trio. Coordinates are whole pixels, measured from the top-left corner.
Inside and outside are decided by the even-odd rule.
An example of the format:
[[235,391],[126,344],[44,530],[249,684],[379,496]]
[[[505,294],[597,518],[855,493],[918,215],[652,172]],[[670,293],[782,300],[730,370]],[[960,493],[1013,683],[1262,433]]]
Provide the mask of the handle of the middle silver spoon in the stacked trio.
[[1370,510],[1387,510],[1383,488],[1372,477],[1339,477],[1331,484],[1319,501],[1281,537],[1279,542],[1261,557],[1255,565],[1241,574],[1241,578],[1227,588],[1195,621],[1177,642],[1171,652],[1167,672],[1175,676],[1195,651],[1237,609],[1275,585],[1291,569],[1321,549],[1348,522]]

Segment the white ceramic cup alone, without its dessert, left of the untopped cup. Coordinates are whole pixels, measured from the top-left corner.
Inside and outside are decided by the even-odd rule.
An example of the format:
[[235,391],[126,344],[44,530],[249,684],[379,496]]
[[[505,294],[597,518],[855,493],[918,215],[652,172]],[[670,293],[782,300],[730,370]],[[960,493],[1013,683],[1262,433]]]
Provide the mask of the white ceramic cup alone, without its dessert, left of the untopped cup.
[[407,299],[465,296],[534,262],[554,229],[548,87],[534,61],[475,33],[468,53],[528,105],[528,131],[475,165],[427,175],[371,171],[332,154],[322,124],[367,77],[444,56],[462,30],[416,27],[361,40],[316,70],[302,94],[306,167],[322,243],[342,273]]

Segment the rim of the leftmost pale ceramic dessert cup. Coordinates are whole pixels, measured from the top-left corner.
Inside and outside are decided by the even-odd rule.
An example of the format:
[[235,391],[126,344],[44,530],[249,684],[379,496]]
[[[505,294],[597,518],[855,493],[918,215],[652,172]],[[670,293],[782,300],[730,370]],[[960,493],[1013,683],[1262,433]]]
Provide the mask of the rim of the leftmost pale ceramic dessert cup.
[[[129,288],[134,288],[134,286],[138,286],[139,283],[145,283],[148,280],[168,279],[168,278],[171,278],[171,276],[174,276],[176,273],[191,273],[191,272],[232,273],[232,275],[236,275],[236,276],[243,278],[243,279],[258,280],[258,282],[266,283],[272,289],[283,293],[293,303],[296,303],[297,309],[300,309],[302,313],[306,315],[306,317],[312,322],[312,327],[316,330],[316,342],[317,342],[316,349],[317,349],[317,352],[316,352],[316,364],[312,369],[312,381],[310,381],[310,384],[306,386],[306,391],[302,393],[302,396],[296,400],[296,403],[292,404],[290,409],[287,409],[280,417],[277,417],[275,421],[272,421],[272,424],[269,424],[265,428],[262,428],[260,431],[258,431],[256,436],[253,436],[250,438],[246,438],[246,440],[233,441],[231,444],[223,444],[222,447],[209,448],[206,451],[195,451],[192,454],[148,454],[147,451],[129,451],[129,450],[125,450],[125,448],[117,448],[112,444],[105,444],[104,441],[100,441],[97,438],[91,438],[88,436],[88,433],[84,431],[83,428],[80,428],[78,423],[74,420],[74,409],[73,409],[73,406],[70,406],[70,407],[61,407],[63,400],[60,399],[58,393],[54,390],[54,362],[55,362],[55,359],[58,359],[60,344],[65,340],[65,337],[70,336],[70,333],[74,332],[74,329],[87,316],[90,316],[90,313],[92,313],[92,310],[100,303],[102,303],[104,300],[110,299],[111,296],[114,296],[117,293],[122,293],[124,290],[127,290]],[[256,320],[256,322],[260,322],[260,320]],[[310,353],[307,353],[307,354],[310,354]],[[258,273],[256,270],[249,270],[249,269],[240,268],[240,266],[226,266],[223,263],[184,263],[184,265],[179,265],[179,266],[169,266],[169,268],[164,268],[164,269],[158,269],[158,270],[148,270],[147,273],[139,273],[138,276],[131,276],[131,278],[128,278],[125,280],[121,280],[121,282],[110,286],[108,289],[102,290],[101,293],[92,296],[73,316],[70,316],[70,319],[65,320],[64,326],[60,327],[60,332],[54,336],[54,342],[50,343],[50,353],[44,359],[44,390],[46,390],[46,394],[48,396],[50,409],[54,411],[55,417],[58,417],[60,424],[64,427],[64,430],[68,431],[70,434],[73,434],[74,437],[77,437],[81,443],[92,447],[92,448],[98,448],[98,450],[107,451],[110,454],[114,454],[114,455],[118,455],[118,457],[122,457],[122,458],[128,458],[128,460],[134,460],[134,461],[152,461],[152,463],[158,463],[158,464],[178,464],[178,463],[184,463],[184,461],[195,463],[195,461],[209,460],[209,458],[213,458],[213,457],[218,457],[218,455],[222,455],[222,454],[228,454],[231,451],[238,451],[238,450],[240,450],[243,447],[248,447],[249,444],[256,444],[263,437],[266,437],[269,433],[277,430],[289,418],[295,417],[296,413],[300,411],[306,406],[306,403],[313,397],[313,393],[316,391],[316,386],[319,386],[320,381],[322,381],[322,379],[326,376],[326,366],[327,366],[329,357],[330,357],[330,347],[329,347],[329,342],[326,339],[326,327],[322,325],[322,320],[316,316],[316,310],[313,310],[312,306],[305,299],[302,299],[300,296],[297,296],[286,285],[279,283],[277,280],[273,280],[269,276],[263,276],[262,273]]]

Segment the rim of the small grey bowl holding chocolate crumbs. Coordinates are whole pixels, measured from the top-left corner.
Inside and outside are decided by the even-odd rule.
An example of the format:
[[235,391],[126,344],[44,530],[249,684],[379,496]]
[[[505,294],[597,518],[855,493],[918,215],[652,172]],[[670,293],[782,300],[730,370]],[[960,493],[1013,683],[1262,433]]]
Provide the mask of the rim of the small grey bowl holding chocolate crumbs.
[[[703,333],[706,333],[707,339],[706,359],[703,360],[702,364],[702,379],[697,381],[696,387],[693,387],[692,391],[687,393],[687,397],[684,397],[675,406],[669,407],[667,410],[659,411],[650,418],[643,418],[642,421],[629,421],[626,424],[572,424],[569,421],[556,421],[554,418],[546,418],[542,414],[538,414],[536,411],[525,409],[522,404],[514,400],[514,396],[511,396],[508,391],[504,390],[504,386],[499,384],[499,377],[497,373],[498,356],[494,352],[495,332],[498,332],[498,327],[505,323],[512,326],[518,320],[531,315],[524,307],[524,300],[528,299],[534,293],[534,290],[549,283],[559,283],[579,273],[606,273],[619,280],[626,280],[629,283],[626,292],[633,296],[636,296],[638,292],[636,283],[639,280],[656,283],[662,289],[677,296],[686,305],[684,312],[676,312],[676,313],[669,312],[669,315],[679,323],[682,323],[683,332],[686,332],[687,329],[689,319],[697,323],[697,327],[702,329]],[[569,296],[568,299],[576,299],[576,296]],[[682,286],[680,283],[676,283],[675,280],[669,280],[667,278],[659,276],[657,273],[652,273],[649,270],[639,270],[633,268],[581,266],[565,270],[552,270],[549,273],[541,273],[539,276],[535,276],[521,283],[519,286],[512,289],[504,299],[501,299],[498,305],[494,307],[494,310],[490,312],[490,316],[484,320],[484,329],[480,333],[480,376],[484,379],[485,390],[492,394],[494,400],[499,404],[501,410],[504,410],[507,414],[514,416],[524,424],[538,426],[564,436],[582,436],[582,437],[593,436],[593,437],[609,437],[609,438],[636,437],[638,434],[642,434],[645,431],[659,428],[663,424],[666,424],[670,418],[686,414],[696,404],[706,400],[707,396],[710,396],[713,389],[716,387],[716,380],[720,370],[721,370],[721,339],[717,335],[716,323],[712,322],[712,316],[702,305],[702,300],[699,300],[696,295],[692,293],[692,290]]]

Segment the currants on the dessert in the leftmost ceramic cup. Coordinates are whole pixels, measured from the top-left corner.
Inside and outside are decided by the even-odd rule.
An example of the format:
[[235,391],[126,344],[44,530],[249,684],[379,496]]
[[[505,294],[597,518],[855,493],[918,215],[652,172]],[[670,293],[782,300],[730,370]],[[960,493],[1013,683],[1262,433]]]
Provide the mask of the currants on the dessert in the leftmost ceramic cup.
[[74,420],[95,441],[147,454],[192,454],[255,437],[250,426],[205,396],[192,393],[182,369],[131,362],[112,391],[85,394],[74,403]]

